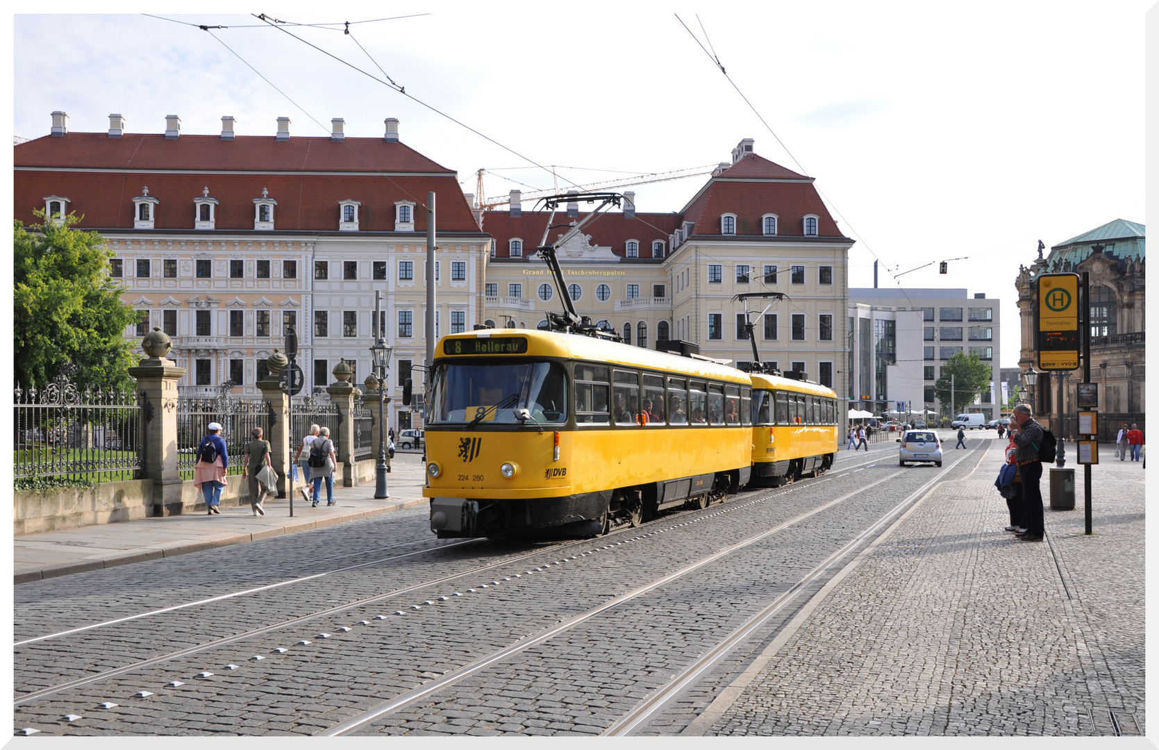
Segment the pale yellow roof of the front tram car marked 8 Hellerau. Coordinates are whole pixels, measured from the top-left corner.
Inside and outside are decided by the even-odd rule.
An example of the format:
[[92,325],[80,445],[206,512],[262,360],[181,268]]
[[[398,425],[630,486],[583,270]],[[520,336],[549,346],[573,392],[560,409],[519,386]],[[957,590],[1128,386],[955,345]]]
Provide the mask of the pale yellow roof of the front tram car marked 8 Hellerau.
[[[749,374],[736,367],[716,364],[706,359],[680,357],[664,351],[655,351],[632,344],[604,341],[580,334],[561,334],[548,330],[531,330],[526,328],[489,328],[462,334],[450,334],[445,340],[455,338],[517,338],[527,340],[527,351],[522,355],[479,355],[479,356],[524,356],[524,357],[559,357],[562,359],[585,359],[588,362],[606,362],[612,365],[625,365],[650,370],[664,370],[690,377],[715,378],[732,383],[749,383]],[[443,344],[435,350],[436,359],[455,359],[462,355],[443,355]]]

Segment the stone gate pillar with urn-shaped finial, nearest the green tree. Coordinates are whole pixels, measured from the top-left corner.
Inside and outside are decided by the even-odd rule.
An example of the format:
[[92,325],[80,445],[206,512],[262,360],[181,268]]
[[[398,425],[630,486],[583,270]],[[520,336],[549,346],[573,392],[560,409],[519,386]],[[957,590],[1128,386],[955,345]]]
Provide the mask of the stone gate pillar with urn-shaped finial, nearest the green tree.
[[151,516],[181,514],[181,474],[177,472],[177,380],[185,374],[166,359],[173,343],[154,328],[141,342],[146,354],[140,365],[129,369],[141,393],[144,457],[141,474],[153,480]]

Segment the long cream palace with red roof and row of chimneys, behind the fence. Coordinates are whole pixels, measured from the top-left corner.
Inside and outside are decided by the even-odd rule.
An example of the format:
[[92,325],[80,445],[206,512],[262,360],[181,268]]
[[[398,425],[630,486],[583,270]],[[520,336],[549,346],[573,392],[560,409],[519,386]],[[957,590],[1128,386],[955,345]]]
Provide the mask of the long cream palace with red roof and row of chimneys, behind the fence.
[[[15,218],[38,223],[75,213],[112,254],[122,299],[140,311],[125,332],[156,327],[188,372],[182,395],[256,395],[265,359],[299,338],[307,385],[333,381],[344,358],[355,381],[370,372],[376,290],[384,292],[387,342],[394,348],[389,395],[401,395],[410,365],[425,351],[427,194],[436,194],[437,320],[446,332],[482,321],[490,238],[453,170],[399,141],[291,137],[279,117],[267,136],[241,136],[221,118],[220,136],[130,133],[121,115],[107,133],[68,132],[52,114],[50,136],[15,146]],[[308,391],[306,391],[308,393]],[[401,399],[391,424],[409,427]]]

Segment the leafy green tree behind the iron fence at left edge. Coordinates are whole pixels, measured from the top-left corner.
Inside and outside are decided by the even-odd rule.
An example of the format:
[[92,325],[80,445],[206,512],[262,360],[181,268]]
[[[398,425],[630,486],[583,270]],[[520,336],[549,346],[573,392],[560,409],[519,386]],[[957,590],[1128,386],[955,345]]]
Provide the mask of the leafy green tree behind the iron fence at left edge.
[[41,224],[14,227],[16,380],[43,387],[73,363],[81,384],[131,388],[136,358],[124,330],[137,312],[109,276],[104,238],[72,228],[74,213],[64,221],[36,216]]

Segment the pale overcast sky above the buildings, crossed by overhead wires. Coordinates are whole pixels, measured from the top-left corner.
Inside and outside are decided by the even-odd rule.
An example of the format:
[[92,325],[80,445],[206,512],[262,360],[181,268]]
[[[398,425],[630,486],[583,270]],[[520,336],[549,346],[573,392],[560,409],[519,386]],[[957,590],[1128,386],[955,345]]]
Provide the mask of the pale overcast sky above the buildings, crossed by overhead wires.
[[[236,7],[220,3],[159,10],[231,27],[212,32],[143,15],[15,16],[14,132],[48,134],[54,109],[73,131],[107,131],[119,112],[130,132],[163,132],[176,114],[184,133],[219,133],[233,115],[239,134],[270,137],[278,116],[292,134],[326,134],[343,117],[366,137],[398,117],[401,140],[458,170],[466,192],[478,168],[495,169],[493,196],[553,185],[526,159],[568,167],[562,187],[727,161],[749,137],[816,177],[858,240],[851,286],[873,284],[875,257],[901,272],[968,256],[947,276],[934,264],[898,281],[1001,298],[1004,366],[1018,361],[1014,277],[1037,240],[1144,221],[1147,2],[323,6],[253,10],[297,23],[429,14],[352,23],[351,35],[287,30],[511,151],[257,19],[211,12]],[[707,32],[775,137],[673,12],[709,46]],[[679,211],[702,181],[628,189],[641,211]],[[896,286],[884,268],[880,285]]]

